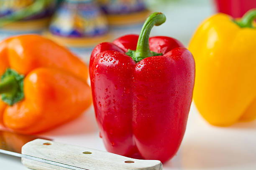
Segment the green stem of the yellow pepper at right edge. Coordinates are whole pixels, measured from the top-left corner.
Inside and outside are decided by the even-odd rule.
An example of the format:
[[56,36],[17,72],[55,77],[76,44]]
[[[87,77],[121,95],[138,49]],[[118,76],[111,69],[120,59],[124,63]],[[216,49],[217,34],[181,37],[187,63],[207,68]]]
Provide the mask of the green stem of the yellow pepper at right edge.
[[249,10],[240,21],[234,21],[241,28],[253,28],[253,20],[256,19],[256,9]]

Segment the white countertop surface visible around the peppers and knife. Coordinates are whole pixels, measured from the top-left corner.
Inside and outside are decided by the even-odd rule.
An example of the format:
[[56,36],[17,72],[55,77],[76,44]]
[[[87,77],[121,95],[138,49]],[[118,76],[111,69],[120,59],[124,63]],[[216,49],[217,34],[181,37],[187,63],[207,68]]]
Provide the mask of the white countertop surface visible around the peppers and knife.
[[[76,120],[41,134],[57,142],[105,150],[92,107]],[[189,112],[187,130],[177,155],[164,170],[255,170],[256,121],[220,128]],[[28,170],[20,158],[0,154],[1,170]]]

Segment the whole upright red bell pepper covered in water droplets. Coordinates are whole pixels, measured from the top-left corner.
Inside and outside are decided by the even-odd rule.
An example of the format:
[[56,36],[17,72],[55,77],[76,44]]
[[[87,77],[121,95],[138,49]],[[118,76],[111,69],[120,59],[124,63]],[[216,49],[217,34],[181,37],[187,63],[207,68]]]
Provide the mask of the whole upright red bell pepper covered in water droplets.
[[[153,25],[164,21],[162,13],[153,13],[140,36],[125,35],[113,43],[103,42],[92,51],[90,78],[95,114],[100,135],[111,153],[164,163],[182,142],[192,101],[195,62],[178,40],[149,38]],[[152,56],[149,48],[159,56]],[[139,55],[126,55],[128,49]]]

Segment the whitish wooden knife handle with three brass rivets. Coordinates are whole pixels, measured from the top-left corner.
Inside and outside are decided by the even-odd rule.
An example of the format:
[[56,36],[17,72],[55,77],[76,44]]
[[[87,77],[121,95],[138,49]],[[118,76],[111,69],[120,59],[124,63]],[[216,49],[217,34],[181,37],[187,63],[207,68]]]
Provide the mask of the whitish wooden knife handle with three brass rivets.
[[[162,170],[159,160],[137,160],[91,148],[36,139],[22,147],[22,163],[34,170]],[[26,158],[26,155],[30,156]],[[70,166],[63,168],[28,158]],[[64,166],[65,167],[65,166]]]

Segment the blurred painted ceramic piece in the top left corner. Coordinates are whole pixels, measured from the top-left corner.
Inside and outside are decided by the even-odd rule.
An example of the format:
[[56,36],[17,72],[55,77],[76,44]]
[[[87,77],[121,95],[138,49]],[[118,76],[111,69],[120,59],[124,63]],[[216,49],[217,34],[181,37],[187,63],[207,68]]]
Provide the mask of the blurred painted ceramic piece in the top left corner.
[[0,28],[16,32],[42,30],[57,4],[58,0],[0,0]]

